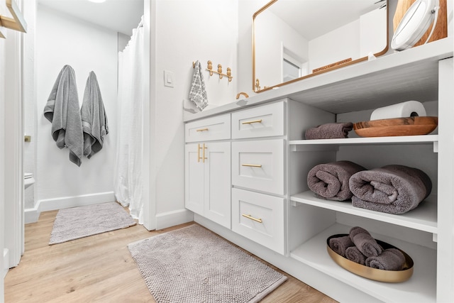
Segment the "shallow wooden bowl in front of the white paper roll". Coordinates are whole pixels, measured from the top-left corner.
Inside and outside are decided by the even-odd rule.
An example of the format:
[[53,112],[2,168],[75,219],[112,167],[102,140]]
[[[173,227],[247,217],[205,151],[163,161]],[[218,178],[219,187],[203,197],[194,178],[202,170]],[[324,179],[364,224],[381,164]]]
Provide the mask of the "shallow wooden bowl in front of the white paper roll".
[[431,133],[437,126],[438,117],[418,116],[362,121],[353,124],[353,129],[361,137],[417,136]]

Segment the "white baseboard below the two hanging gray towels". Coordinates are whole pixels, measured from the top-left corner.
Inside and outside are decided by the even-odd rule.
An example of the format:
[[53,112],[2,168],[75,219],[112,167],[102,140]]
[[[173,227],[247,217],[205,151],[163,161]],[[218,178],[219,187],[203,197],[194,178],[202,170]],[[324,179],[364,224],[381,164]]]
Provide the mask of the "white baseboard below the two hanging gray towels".
[[116,201],[114,192],[98,192],[95,194],[38,200],[35,207],[24,210],[25,224],[37,222],[41,211],[53,211],[112,201]]

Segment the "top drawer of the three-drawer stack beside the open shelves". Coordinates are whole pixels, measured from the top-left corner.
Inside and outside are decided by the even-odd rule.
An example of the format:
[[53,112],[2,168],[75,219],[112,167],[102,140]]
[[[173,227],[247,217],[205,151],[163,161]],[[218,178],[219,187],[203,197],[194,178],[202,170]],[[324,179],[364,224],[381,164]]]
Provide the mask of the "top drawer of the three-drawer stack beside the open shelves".
[[284,135],[284,102],[245,109],[232,114],[232,138]]

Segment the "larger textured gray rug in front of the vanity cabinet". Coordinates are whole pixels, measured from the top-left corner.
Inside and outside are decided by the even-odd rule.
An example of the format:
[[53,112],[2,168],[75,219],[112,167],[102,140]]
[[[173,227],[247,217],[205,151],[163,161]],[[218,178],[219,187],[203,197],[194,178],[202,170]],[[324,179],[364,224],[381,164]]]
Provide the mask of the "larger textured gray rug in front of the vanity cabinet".
[[199,225],[128,248],[157,303],[259,302],[287,280]]

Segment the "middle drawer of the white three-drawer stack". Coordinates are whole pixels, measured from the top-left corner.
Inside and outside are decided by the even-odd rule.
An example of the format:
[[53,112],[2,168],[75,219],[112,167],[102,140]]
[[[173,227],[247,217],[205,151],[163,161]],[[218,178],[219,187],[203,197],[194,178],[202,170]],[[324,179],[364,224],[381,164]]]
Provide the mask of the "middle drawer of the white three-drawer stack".
[[233,142],[232,184],[284,194],[284,140]]

